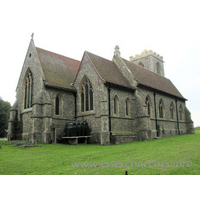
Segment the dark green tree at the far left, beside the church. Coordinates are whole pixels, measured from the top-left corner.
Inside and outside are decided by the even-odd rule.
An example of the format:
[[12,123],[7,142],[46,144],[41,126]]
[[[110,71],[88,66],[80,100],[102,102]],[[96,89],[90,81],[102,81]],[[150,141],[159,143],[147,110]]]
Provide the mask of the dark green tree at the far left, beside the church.
[[0,97],[0,138],[6,137],[11,105]]

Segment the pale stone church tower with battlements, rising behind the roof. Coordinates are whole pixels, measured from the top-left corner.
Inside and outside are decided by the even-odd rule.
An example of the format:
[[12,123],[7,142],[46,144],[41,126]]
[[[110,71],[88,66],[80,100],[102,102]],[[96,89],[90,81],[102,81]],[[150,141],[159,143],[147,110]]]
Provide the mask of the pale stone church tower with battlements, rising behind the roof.
[[152,50],[145,49],[141,54],[136,54],[135,57],[131,56],[130,61],[165,76],[163,57]]

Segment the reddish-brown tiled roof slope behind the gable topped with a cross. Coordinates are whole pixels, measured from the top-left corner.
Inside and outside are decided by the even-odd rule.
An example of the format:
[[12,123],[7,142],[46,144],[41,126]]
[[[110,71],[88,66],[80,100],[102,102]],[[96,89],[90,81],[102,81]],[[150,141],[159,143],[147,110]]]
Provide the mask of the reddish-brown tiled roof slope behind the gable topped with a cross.
[[45,84],[74,90],[71,84],[80,61],[36,47],[45,76]]

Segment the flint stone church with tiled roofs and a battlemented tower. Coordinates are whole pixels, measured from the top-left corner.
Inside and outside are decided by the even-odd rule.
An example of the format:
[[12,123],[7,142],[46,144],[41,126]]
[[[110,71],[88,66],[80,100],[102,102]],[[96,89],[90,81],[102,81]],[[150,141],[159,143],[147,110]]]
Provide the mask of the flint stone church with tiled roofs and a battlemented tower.
[[112,60],[85,51],[81,61],[38,48],[31,39],[16,88],[14,121],[21,139],[61,141],[70,121],[86,121],[89,143],[119,144],[194,133],[186,99],[165,78],[163,57],[144,50],[130,61],[119,47]]

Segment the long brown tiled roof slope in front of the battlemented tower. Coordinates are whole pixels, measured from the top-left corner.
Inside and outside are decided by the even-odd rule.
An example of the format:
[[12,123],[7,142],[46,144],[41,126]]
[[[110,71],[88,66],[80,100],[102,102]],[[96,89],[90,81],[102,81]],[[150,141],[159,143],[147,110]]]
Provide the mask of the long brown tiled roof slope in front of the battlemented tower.
[[128,60],[123,59],[123,61],[137,78],[139,84],[185,99],[169,79]]

